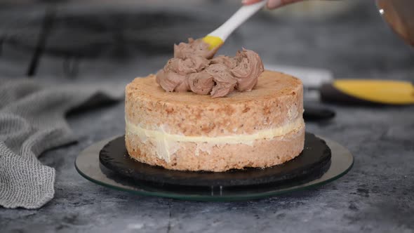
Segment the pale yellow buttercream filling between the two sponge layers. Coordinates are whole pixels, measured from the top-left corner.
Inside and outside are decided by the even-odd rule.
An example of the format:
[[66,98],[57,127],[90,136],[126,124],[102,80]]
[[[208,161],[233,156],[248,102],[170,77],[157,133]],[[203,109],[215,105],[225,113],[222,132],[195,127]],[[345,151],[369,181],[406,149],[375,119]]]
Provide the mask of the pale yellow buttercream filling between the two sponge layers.
[[284,124],[283,126],[264,129],[256,131],[251,134],[235,134],[235,135],[220,135],[217,137],[208,136],[187,136],[180,134],[171,134],[166,131],[166,126],[159,126],[156,130],[143,128],[140,125],[133,124],[125,118],[126,133],[138,135],[141,142],[149,140],[156,148],[157,157],[167,162],[170,161],[171,154],[177,152],[180,148],[178,142],[195,142],[197,147],[194,155],[199,154],[199,150],[208,152],[210,149],[206,147],[213,147],[215,145],[226,144],[244,144],[253,146],[255,140],[272,140],[276,137],[281,137],[293,131],[298,131],[305,126],[302,117],[297,117],[295,120]]

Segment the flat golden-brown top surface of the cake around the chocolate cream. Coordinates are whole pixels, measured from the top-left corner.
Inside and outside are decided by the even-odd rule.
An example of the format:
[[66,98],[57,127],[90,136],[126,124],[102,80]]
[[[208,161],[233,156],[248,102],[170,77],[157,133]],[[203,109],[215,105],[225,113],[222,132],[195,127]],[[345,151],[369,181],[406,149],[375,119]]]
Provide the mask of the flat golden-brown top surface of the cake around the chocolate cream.
[[211,103],[232,104],[236,102],[254,102],[267,98],[277,98],[295,94],[302,89],[302,81],[288,74],[266,70],[258,78],[258,84],[251,91],[233,92],[225,98],[211,98],[208,95],[196,95],[192,92],[168,93],[155,82],[156,76],[150,74],[146,78],[136,78],[126,86],[126,93],[133,99],[151,98],[152,100],[177,102],[178,104],[196,103],[206,105]]

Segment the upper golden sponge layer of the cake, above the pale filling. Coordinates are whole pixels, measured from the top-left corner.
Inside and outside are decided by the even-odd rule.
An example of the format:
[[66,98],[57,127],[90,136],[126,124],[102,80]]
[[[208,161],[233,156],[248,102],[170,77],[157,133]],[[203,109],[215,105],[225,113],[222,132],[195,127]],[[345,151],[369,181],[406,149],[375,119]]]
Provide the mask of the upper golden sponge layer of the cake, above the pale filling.
[[167,93],[154,79],[152,74],[126,86],[127,121],[149,130],[217,137],[257,133],[302,119],[302,83],[287,74],[265,71],[252,91],[224,98]]

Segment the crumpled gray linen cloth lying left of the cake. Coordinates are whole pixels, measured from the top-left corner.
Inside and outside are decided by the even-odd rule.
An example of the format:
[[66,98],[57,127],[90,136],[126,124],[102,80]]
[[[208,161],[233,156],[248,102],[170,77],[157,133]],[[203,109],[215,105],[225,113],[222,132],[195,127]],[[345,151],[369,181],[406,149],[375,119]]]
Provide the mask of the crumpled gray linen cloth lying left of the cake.
[[120,100],[123,85],[46,84],[0,79],[0,206],[39,208],[53,198],[55,169],[38,160],[76,140],[65,114]]

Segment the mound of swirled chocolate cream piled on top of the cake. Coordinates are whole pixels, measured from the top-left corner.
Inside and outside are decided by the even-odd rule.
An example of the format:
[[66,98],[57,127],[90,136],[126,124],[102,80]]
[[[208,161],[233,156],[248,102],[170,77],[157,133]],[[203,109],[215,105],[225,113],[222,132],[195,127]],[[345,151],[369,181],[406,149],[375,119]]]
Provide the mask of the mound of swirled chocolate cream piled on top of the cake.
[[214,54],[201,39],[174,45],[174,58],[156,74],[156,83],[165,91],[210,93],[212,98],[218,98],[234,89],[251,91],[264,70],[262,60],[253,51],[243,49],[234,58],[213,58]]

